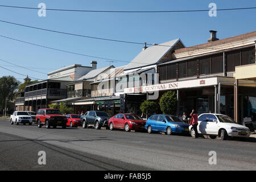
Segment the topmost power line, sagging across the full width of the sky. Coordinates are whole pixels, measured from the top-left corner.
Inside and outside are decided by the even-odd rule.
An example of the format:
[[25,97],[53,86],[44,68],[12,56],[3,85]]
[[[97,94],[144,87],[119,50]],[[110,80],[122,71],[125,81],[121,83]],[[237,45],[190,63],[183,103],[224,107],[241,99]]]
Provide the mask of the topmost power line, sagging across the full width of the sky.
[[[163,11],[106,11],[106,10],[68,10],[68,9],[42,9],[38,7],[23,7],[23,6],[8,6],[0,5],[0,7],[10,7],[16,9],[31,9],[31,10],[49,10],[49,11],[75,11],[87,13],[189,13],[189,12],[203,12],[208,10],[163,10]],[[216,9],[216,11],[232,11],[232,10],[249,10],[256,9],[256,7],[238,7],[230,9]]]

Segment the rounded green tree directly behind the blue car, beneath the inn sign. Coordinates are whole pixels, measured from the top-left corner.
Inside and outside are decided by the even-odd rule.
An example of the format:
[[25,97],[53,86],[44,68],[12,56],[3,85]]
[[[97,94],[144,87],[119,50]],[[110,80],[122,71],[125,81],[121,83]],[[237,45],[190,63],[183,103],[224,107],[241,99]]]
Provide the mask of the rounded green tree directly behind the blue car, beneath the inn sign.
[[163,94],[159,101],[160,109],[163,114],[176,114],[177,97],[172,90]]

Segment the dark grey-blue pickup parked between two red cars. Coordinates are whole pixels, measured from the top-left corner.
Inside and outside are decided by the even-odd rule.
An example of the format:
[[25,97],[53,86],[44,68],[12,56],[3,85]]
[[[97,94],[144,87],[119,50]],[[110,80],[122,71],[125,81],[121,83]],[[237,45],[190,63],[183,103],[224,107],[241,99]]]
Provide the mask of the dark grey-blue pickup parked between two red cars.
[[95,129],[101,129],[108,126],[109,118],[109,114],[104,111],[87,111],[81,115],[82,127],[85,129],[88,126],[94,126]]

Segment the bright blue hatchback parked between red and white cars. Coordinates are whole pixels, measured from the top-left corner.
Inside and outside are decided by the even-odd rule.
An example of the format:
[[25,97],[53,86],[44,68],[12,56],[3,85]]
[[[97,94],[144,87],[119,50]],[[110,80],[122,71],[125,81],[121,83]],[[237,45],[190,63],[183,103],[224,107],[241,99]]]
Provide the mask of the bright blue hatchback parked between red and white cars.
[[189,134],[188,126],[187,123],[184,123],[175,115],[155,114],[147,119],[145,129],[148,133],[162,131],[167,135],[172,133]]

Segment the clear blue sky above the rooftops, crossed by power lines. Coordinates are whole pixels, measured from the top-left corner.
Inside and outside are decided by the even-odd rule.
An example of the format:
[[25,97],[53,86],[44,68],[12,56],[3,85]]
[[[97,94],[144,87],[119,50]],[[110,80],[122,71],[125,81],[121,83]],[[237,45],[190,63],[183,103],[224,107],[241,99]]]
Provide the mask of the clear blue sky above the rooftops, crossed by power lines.
[[[217,9],[256,6],[255,1],[121,1],[121,0],[32,0],[10,1],[1,0],[1,5],[37,7],[46,3],[49,9],[80,9],[80,10],[195,10],[209,9],[211,2]],[[72,13],[47,11],[46,17],[39,17],[38,10],[10,9],[0,7],[0,20],[30,26],[48,28],[57,31],[72,32],[88,36],[108,39],[126,40],[131,42],[162,43],[180,38],[185,46],[194,46],[207,42],[209,30],[217,30],[217,38],[245,34],[256,30],[256,10],[218,11],[217,17],[209,17],[208,12],[199,13],[159,13],[159,14],[117,14],[117,13]],[[53,32],[18,27],[0,22],[0,35],[11,38],[55,47],[86,55],[108,57],[110,59],[131,61],[141,52],[141,45],[108,42],[61,35]],[[53,51],[0,37],[0,59],[23,65],[40,72],[51,72],[71,64],[90,65],[91,60],[98,61],[98,68],[109,65],[109,62],[90,57],[72,55]],[[115,67],[126,63],[113,63]],[[47,75],[28,71],[13,65],[0,65],[24,75],[47,78]],[[0,77],[13,75],[0,68]]]

